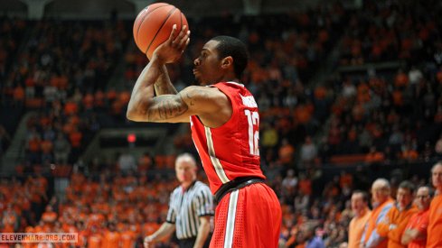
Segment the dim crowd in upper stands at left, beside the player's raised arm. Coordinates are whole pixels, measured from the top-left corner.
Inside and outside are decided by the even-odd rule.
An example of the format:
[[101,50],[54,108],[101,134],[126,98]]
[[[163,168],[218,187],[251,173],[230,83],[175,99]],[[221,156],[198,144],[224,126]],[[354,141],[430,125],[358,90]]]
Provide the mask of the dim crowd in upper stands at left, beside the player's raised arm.
[[99,112],[119,116],[127,104],[127,92],[106,90],[129,39],[127,23],[44,20],[25,30],[29,38],[1,88],[5,106],[37,113],[26,124],[23,165],[72,164],[99,130]]

